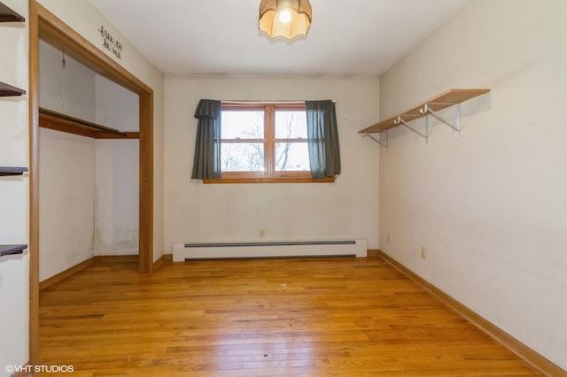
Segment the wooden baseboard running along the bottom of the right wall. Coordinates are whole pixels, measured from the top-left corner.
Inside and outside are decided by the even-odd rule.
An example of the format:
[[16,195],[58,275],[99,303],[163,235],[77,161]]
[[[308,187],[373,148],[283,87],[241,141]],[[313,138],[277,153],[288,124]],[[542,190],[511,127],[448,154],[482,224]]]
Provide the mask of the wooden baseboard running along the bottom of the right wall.
[[484,319],[483,317],[478,315],[477,312],[473,312],[467,306],[461,304],[453,297],[447,295],[447,293],[435,287],[429,281],[424,280],[421,276],[414,273],[406,266],[401,265],[398,261],[385,254],[384,251],[378,250],[378,258],[384,259],[385,262],[389,263],[394,268],[399,270],[400,273],[408,276],[408,278],[412,281],[415,281],[418,285],[423,287],[423,289],[431,293],[431,295],[439,298],[441,302],[454,310],[454,312],[460,314],[464,319],[469,320],[470,323],[483,330],[487,335],[492,336],[494,340],[500,342],[504,347],[514,352],[519,358],[522,358],[526,363],[532,365],[540,373],[557,377],[567,376],[567,371],[565,371],[563,368],[555,365],[555,363],[552,363],[547,358],[544,358],[538,352],[526,346],[523,342],[518,341],[513,336],[504,332],[500,327],[496,327],[492,322]]

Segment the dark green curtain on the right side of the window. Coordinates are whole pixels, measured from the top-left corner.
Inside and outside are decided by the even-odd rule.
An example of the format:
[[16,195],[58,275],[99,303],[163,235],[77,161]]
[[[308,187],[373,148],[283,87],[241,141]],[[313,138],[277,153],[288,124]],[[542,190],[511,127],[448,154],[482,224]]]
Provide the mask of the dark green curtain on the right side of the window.
[[335,104],[330,100],[306,101],[305,110],[311,177],[334,177],[340,174]]

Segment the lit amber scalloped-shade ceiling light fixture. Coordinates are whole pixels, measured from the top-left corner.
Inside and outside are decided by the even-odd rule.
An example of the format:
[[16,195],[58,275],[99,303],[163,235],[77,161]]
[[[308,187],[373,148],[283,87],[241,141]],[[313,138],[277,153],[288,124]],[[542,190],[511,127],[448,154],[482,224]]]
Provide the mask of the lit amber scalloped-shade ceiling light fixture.
[[283,36],[293,39],[307,35],[311,25],[309,0],[262,0],[258,27],[270,38]]

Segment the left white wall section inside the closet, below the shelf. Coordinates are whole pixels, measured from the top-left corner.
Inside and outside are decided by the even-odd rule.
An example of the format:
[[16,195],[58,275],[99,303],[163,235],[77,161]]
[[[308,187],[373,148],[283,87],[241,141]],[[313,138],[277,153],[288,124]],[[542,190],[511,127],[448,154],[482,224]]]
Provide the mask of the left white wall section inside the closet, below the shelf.
[[39,280],[95,255],[95,142],[40,129]]

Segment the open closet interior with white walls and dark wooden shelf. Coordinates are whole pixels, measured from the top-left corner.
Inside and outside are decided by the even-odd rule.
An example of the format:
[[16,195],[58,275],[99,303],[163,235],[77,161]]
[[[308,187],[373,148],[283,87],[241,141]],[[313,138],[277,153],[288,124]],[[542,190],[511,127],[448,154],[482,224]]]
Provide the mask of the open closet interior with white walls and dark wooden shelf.
[[139,97],[40,32],[39,106],[42,288],[93,256],[138,255]]

